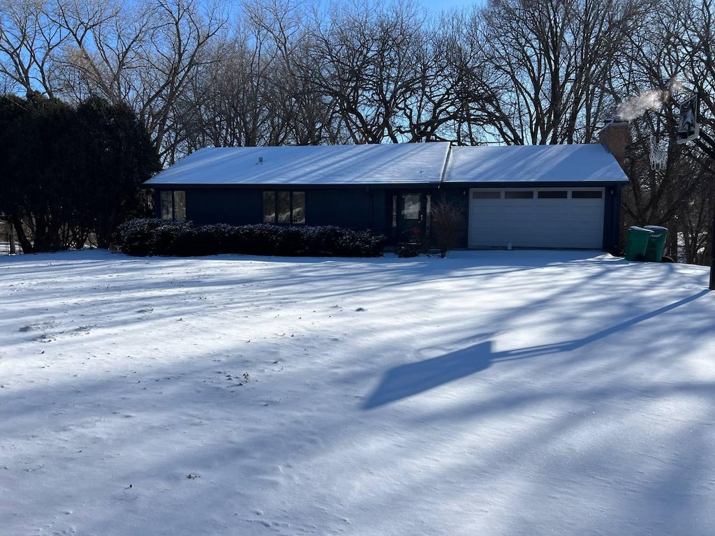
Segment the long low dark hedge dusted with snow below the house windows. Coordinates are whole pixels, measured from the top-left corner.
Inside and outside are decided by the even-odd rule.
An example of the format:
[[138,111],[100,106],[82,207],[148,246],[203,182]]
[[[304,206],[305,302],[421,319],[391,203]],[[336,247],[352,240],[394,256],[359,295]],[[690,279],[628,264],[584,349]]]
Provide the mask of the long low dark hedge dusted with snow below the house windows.
[[380,257],[385,237],[335,226],[271,224],[194,226],[165,219],[132,219],[119,226],[115,247],[144,257],[193,257],[217,254],[284,257]]

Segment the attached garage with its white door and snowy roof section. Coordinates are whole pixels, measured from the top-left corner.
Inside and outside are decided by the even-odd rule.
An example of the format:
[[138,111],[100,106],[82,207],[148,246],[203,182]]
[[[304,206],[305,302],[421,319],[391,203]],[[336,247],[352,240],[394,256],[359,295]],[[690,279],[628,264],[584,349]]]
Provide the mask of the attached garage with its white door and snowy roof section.
[[443,181],[468,199],[468,247],[606,251],[627,183],[601,144],[453,147]]

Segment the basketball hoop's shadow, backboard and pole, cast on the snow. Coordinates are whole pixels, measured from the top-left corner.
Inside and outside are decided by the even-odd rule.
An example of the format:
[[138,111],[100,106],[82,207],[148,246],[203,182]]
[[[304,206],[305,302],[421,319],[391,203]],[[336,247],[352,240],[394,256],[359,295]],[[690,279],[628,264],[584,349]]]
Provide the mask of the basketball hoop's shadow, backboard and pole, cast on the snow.
[[657,317],[660,314],[669,312],[672,309],[681,307],[689,302],[694,302],[696,299],[708,294],[708,292],[708,290],[701,290],[701,292],[697,294],[685,297],[677,302],[655,309],[654,311],[640,314],[637,317],[607,327],[606,329],[601,329],[601,331],[588,335],[588,337],[582,337],[581,339],[572,339],[570,341],[556,342],[553,344],[539,344],[538,346],[504,350],[502,352],[494,352],[492,349],[493,341],[488,340],[439,357],[425,359],[416,363],[402,364],[385,373],[377,389],[375,389],[365,401],[363,410],[373,410],[376,407],[390,404],[390,402],[397,402],[398,400],[413,397],[415,394],[420,394],[435,387],[440,387],[440,385],[488,369],[488,367],[495,362],[526,359],[528,357],[560,352],[571,352],[620,332],[623,329],[627,329],[628,327]]

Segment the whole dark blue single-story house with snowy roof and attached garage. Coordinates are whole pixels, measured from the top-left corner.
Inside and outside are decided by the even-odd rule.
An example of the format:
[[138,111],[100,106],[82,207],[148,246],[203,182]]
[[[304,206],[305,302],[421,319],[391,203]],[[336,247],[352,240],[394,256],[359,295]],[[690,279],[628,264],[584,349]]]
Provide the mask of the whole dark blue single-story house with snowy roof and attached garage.
[[337,225],[388,242],[430,237],[445,197],[460,246],[618,246],[621,187],[602,144],[451,147],[447,142],[200,149],[149,179],[157,217],[195,224]]

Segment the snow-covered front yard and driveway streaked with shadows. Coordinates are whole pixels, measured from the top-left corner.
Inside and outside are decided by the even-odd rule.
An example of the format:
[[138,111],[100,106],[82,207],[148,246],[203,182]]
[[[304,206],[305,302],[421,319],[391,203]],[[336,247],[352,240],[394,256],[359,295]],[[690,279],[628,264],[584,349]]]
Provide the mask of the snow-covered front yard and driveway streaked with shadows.
[[708,269],[0,258],[7,535],[708,535]]

